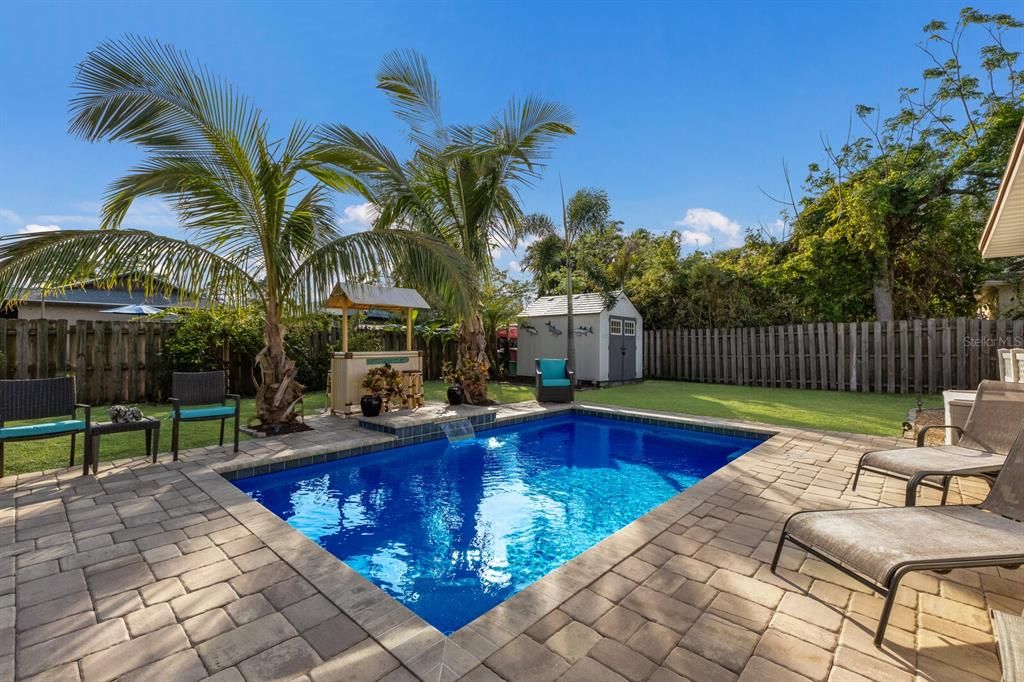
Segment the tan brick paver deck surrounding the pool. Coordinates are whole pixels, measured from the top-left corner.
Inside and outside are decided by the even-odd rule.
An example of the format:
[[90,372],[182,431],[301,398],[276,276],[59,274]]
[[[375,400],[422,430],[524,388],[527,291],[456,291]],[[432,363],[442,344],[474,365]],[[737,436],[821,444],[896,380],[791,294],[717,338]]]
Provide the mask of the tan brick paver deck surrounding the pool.
[[787,514],[899,505],[902,486],[868,475],[849,488],[859,454],[895,438],[771,427],[446,638],[211,468],[389,438],[314,426],[237,456],[3,479],[0,680],[972,682],[999,677],[986,609],[1024,609],[1024,569],[914,574],[879,650],[882,600],[863,586],[795,550],[772,576]]

